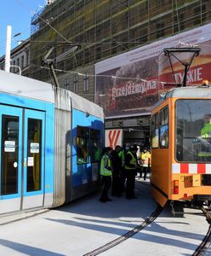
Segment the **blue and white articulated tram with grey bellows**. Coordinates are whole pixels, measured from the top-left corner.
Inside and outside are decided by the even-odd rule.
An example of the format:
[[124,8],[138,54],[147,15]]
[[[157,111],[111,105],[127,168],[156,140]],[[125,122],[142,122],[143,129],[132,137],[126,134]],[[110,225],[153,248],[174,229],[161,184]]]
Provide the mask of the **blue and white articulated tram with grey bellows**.
[[100,188],[102,108],[0,71],[0,214],[58,207]]

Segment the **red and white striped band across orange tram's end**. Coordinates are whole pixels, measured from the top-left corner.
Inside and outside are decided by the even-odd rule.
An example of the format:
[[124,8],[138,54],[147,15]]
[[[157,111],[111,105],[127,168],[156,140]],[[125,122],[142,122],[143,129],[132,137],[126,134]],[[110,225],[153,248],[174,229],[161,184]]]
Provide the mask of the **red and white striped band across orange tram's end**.
[[172,164],[172,173],[211,174],[211,164]]

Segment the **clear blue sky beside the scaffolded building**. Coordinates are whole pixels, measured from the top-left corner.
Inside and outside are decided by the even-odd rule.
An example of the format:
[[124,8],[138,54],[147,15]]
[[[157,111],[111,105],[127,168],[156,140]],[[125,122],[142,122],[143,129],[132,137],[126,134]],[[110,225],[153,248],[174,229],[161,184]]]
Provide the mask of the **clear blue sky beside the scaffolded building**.
[[[0,56],[5,55],[7,26],[12,26],[11,49],[31,34],[31,17],[45,6],[46,0],[0,0]],[[21,33],[19,36],[14,37]]]

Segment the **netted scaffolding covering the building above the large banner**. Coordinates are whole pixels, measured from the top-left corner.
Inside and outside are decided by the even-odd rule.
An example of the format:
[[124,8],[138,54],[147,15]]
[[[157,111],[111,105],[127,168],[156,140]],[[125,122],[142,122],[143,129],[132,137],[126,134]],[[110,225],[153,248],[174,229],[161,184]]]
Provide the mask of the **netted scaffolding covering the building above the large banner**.
[[80,45],[55,63],[57,69],[74,71],[210,20],[209,0],[57,0],[31,20],[31,77],[48,80],[40,67],[55,42],[60,47],[53,58],[70,43]]

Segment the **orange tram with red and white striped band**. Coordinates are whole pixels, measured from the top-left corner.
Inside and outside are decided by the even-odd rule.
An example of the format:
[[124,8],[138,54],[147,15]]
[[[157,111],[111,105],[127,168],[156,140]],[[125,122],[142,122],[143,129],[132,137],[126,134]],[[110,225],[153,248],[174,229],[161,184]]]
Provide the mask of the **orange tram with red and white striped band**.
[[[208,131],[209,130],[209,131]],[[151,193],[167,201],[211,201],[211,88],[169,90],[151,113]]]

